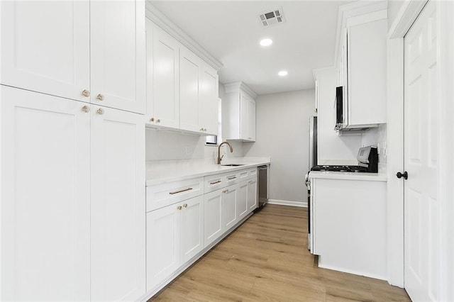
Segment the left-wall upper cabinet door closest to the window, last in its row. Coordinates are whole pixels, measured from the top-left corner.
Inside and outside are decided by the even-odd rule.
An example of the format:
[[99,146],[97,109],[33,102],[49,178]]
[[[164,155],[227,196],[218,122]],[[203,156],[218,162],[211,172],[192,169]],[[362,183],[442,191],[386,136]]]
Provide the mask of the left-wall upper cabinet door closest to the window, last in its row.
[[201,106],[199,114],[201,127],[210,135],[218,135],[219,99],[218,99],[218,73],[214,68],[204,64],[201,76]]

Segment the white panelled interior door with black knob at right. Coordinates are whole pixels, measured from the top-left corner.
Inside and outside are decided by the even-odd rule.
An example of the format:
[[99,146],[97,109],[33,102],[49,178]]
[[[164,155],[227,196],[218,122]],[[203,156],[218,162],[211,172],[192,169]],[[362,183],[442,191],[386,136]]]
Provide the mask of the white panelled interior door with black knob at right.
[[438,301],[438,66],[436,1],[405,41],[404,286],[413,301]]

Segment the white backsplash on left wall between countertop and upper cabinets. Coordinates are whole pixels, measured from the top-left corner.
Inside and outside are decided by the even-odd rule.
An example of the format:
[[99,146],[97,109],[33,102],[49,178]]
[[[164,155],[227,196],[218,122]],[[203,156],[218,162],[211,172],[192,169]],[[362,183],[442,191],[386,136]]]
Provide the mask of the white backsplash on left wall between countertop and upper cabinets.
[[[145,159],[156,160],[196,160],[206,159],[216,163],[218,147],[205,144],[206,137],[179,131],[147,128],[145,130]],[[243,142],[231,142],[233,153],[228,146],[221,147],[224,159],[243,157]]]

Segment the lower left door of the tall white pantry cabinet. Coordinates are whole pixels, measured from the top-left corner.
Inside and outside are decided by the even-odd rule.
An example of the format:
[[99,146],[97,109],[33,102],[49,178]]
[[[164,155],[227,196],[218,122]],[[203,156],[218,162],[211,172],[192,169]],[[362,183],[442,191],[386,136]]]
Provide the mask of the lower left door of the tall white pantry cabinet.
[[0,89],[1,300],[88,301],[90,115]]

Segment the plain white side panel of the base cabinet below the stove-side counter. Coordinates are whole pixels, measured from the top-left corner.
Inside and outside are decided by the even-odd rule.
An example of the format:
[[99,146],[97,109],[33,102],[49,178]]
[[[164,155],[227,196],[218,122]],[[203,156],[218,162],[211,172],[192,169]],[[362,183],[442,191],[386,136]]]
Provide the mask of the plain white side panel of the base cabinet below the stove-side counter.
[[386,279],[386,181],[313,180],[319,267]]

